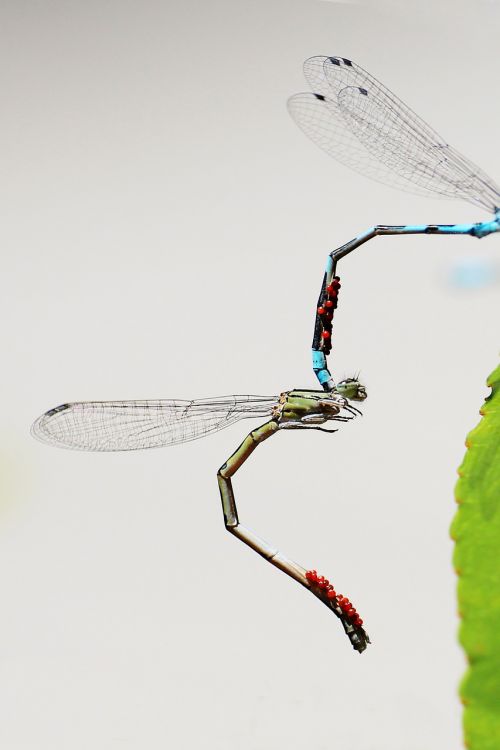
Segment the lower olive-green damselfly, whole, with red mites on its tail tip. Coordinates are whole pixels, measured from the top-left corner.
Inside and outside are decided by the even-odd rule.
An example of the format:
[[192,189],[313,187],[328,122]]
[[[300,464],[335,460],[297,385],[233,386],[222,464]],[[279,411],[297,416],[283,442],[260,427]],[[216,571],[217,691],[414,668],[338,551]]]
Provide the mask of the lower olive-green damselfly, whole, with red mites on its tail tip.
[[33,424],[33,435],[50,445],[85,451],[127,451],[185,443],[222,430],[241,419],[269,417],[252,430],[217,472],[226,529],[265,560],[305,586],[339,617],[353,648],[369,643],[363,621],[347,597],[327,579],[289,560],[240,524],[231,477],[255,448],[280,430],[335,432],[327,422],[349,422],[360,414],[351,403],[366,390],[354,378],[335,390],[286,391],[277,397],[221,396],[197,401],[82,401],[62,404]]

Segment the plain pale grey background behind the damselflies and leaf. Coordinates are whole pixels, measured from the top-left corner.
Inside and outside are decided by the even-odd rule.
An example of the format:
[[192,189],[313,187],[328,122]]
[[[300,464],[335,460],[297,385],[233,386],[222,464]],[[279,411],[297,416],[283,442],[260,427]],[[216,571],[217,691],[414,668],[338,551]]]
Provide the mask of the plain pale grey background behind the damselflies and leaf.
[[497,363],[498,238],[378,239],[342,264],[339,375],[362,420],[281,434],[241,518],[361,611],[224,532],[215,472],[251,423],[163,451],[36,443],[66,400],[315,387],[328,251],[371,224],[487,218],[316,149],[286,98],[350,57],[500,174],[497,2],[1,4],[0,742],[9,750],[441,750],[461,744],[448,527]]

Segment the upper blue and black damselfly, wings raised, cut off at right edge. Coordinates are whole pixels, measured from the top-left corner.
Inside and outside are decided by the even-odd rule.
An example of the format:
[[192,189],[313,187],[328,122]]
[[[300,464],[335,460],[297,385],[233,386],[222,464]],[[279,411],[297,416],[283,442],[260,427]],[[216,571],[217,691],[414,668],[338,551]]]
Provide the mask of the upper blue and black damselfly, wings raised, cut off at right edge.
[[337,262],[373,237],[387,234],[464,234],[500,230],[500,188],[366,70],[345,57],[311,57],[304,74],[313,93],[296,94],[288,109],[320,148],[346,166],[418,195],[458,198],[493,213],[477,224],[371,227],[328,256],[316,311],[313,369],[326,391],[335,387],[326,357],[337,305]]

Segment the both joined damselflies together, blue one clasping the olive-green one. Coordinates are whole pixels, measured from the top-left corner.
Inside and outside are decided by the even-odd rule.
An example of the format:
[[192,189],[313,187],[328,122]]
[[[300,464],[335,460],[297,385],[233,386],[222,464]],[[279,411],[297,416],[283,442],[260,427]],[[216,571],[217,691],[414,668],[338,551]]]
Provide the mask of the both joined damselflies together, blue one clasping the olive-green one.
[[42,415],[33,425],[33,434],[66,448],[136,450],[188,442],[242,419],[267,417],[218,471],[226,528],[323,601],[340,618],[353,647],[361,652],[369,639],[351,602],[316,571],[292,562],[240,524],[231,477],[257,445],[280,430],[334,432],[324,425],[348,422],[359,414],[351,402],[366,398],[364,387],[356,379],[335,383],[327,368],[340,288],[337,262],[379,235],[463,234],[481,238],[497,232],[500,190],[355,63],[342,57],[313,57],[306,61],[304,70],[312,93],[293,96],[289,111],[299,127],[327,153],[380,182],[421,195],[461,198],[491,211],[493,218],[478,224],[379,225],[330,253],[313,339],[313,368],[322,391],[292,390],[276,397],[227,396],[194,401],[74,402]]

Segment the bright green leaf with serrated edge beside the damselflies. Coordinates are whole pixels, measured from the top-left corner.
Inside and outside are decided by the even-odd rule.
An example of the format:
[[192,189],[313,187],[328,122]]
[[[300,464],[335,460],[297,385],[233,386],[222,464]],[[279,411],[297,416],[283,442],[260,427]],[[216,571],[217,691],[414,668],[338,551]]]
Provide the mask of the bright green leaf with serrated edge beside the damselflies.
[[451,527],[459,576],[459,639],[468,661],[460,687],[465,745],[500,750],[500,367],[466,440]]

